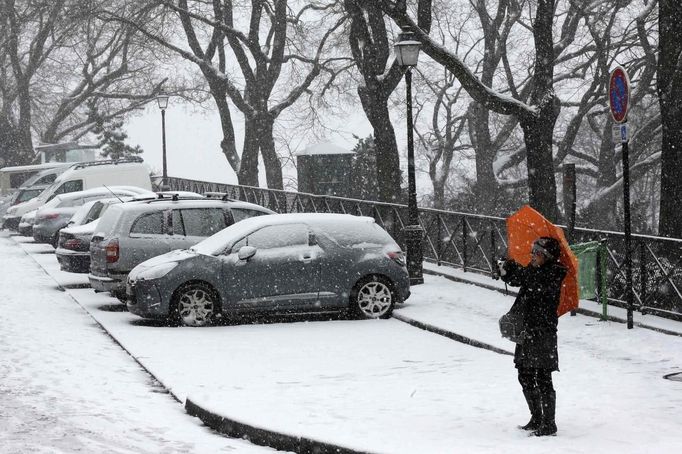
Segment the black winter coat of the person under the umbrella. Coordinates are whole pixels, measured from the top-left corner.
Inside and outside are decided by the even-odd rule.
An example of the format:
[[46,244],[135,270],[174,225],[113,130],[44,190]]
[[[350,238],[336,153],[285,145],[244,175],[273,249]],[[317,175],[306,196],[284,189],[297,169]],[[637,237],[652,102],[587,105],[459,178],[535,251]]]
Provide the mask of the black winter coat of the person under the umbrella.
[[516,345],[514,364],[517,368],[559,370],[557,308],[566,268],[558,262],[524,267],[508,260],[505,270],[502,280],[521,287],[510,310],[523,315],[525,331],[523,344]]

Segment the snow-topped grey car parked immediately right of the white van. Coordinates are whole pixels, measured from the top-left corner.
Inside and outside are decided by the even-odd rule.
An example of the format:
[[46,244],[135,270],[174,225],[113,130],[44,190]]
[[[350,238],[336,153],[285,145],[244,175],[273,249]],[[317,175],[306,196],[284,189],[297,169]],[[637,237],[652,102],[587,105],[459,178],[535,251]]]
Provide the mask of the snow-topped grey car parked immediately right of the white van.
[[111,186],[60,194],[36,210],[33,223],[33,239],[38,243],[50,243],[55,248],[59,230],[69,223],[71,217],[86,202],[109,197],[146,195],[154,193],[134,186]]

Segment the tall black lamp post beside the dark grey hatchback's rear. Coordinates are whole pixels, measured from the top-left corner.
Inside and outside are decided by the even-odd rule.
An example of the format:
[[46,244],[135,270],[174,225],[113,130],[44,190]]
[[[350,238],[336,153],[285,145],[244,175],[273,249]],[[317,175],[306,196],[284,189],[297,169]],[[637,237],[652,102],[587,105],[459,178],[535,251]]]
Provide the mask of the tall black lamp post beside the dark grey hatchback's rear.
[[405,88],[407,91],[407,211],[408,222],[405,226],[405,243],[407,246],[407,271],[410,274],[410,284],[423,284],[422,270],[422,234],[417,210],[417,184],[414,168],[414,138],[412,134],[412,67],[417,65],[421,43],[414,39],[414,33],[408,29],[398,36],[394,45],[395,57],[400,66],[405,67]]

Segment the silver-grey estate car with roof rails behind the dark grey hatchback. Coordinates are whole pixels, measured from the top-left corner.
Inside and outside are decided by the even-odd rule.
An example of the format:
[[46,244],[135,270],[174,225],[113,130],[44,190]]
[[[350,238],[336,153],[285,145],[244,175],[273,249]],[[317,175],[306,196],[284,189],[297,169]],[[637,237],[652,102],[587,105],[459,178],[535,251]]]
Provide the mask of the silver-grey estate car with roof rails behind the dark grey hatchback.
[[242,219],[272,213],[247,202],[177,196],[112,206],[90,242],[90,285],[124,299],[128,273],[139,263],[193,246]]

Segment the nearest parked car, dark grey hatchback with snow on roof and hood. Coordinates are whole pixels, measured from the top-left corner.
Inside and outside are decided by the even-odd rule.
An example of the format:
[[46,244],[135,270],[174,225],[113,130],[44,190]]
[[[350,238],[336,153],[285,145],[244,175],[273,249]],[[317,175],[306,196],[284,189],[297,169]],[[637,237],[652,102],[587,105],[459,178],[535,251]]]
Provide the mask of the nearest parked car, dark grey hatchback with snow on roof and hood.
[[141,263],[127,295],[131,313],[187,326],[252,311],[386,318],[409,297],[410,280],[403,252],[374,219],[281,214]]

